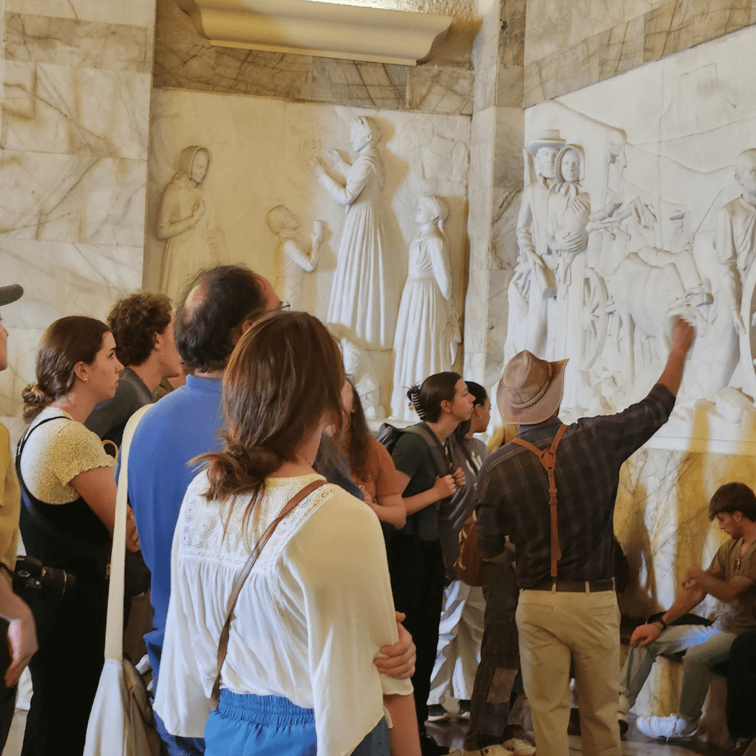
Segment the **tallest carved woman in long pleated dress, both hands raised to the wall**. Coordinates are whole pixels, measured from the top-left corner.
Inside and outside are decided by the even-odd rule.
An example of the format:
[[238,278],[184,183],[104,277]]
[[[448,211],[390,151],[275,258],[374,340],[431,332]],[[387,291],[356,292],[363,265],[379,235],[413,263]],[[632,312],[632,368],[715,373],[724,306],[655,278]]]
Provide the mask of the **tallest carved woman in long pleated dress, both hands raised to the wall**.
[[312,172],[336,202],[346,208],[336,271],[331,284],[327,322],[345,325],[374,349],[390,349],[393,323],[389,304],[389,270],[384,260],[383,226],[377,209],[386,175],[378,153],[380,132],[365,116],[352,122],[351,165],[338,150],[327,155],[345,182],[327,172],[322,160],[310,161]]

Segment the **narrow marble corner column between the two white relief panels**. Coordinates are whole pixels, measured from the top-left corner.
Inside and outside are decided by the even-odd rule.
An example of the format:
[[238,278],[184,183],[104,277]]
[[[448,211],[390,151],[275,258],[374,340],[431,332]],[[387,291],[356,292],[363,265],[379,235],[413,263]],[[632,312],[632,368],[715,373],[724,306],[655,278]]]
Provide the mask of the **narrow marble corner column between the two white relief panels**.
[[501,0],[481,8],[483,23],[474,48],[464,375],[488,389],[502,368],[507,287],[517,256],[525,5],[526,0]]

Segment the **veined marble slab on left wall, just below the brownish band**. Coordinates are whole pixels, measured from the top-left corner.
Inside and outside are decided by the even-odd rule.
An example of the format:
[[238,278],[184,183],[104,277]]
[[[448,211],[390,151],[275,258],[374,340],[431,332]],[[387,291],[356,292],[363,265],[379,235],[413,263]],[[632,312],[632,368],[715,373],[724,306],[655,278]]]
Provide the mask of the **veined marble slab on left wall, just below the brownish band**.
[[2,147],[147,160],[150,76],[5,60]]

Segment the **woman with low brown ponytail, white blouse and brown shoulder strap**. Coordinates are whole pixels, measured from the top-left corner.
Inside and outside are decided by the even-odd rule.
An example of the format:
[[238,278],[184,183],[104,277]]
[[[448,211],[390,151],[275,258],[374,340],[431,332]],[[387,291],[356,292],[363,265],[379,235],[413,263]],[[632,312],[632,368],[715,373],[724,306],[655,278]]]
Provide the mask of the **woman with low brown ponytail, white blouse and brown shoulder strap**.
[[204,735],[206,756],[420,754],[411,683],[373,663],[398,639],[380,523],[312,469],[321,433],[344,424],[344,380],[333,336],[300,312],[256,324],[228,363],[224,451],[204,455],[176,524],[155,702],[170,733]]

